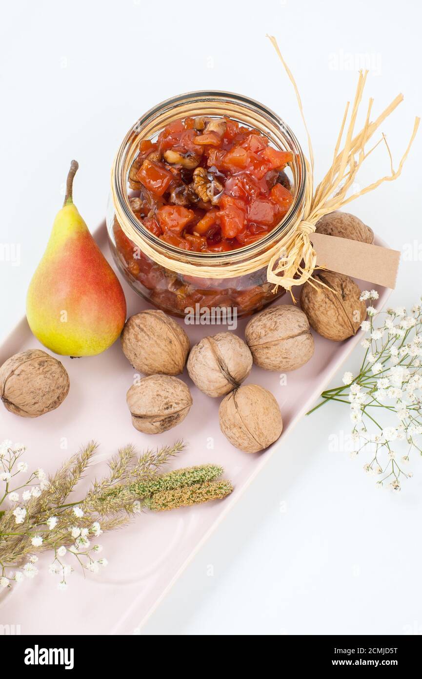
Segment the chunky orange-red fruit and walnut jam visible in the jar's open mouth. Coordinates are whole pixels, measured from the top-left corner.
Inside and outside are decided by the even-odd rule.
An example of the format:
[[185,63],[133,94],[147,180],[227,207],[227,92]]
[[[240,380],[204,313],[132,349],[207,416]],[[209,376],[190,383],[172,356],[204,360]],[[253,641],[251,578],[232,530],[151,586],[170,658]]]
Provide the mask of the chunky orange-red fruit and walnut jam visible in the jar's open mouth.
[[157,238],[185,251],[224,253],[280,223],[293,196],[291,151],[229,117],[186,117],[142,140],[129,173],[130,205]]

